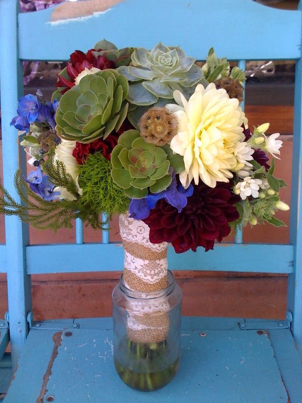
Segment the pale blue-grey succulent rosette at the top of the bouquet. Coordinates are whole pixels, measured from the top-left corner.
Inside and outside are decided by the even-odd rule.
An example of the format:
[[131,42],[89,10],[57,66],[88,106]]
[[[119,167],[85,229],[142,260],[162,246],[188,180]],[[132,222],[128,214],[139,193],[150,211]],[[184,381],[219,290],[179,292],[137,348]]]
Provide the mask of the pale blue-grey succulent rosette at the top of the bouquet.
[[138,106],[128,114],[136,127],[139,117],[150,105],[171,103],[167,99],[173,99],[175,90],[189,98],[196,84],[203,83],[203,73],[194,64],[196,59],[186,56],[179,46],[158,43],[152,50],[135,48],[131,60],[131,65],[120,66],[117,71],[129,81],[127,100]]

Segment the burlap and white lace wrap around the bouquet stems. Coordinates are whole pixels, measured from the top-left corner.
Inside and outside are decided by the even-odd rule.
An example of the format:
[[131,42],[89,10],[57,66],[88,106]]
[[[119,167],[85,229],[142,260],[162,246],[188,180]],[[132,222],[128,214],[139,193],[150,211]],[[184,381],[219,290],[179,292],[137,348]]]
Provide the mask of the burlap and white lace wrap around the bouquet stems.
[[[128,214],[119,219],[124,259],[124,282],[134,291],[152,293],[167,287],[167,243],[149,241],[149,227]],[[150,294],[148,294],[150,296]],[[128,338],[135,343],[158,343],[167,338],[169,303],[165,296],[133,301],[129,298]]]

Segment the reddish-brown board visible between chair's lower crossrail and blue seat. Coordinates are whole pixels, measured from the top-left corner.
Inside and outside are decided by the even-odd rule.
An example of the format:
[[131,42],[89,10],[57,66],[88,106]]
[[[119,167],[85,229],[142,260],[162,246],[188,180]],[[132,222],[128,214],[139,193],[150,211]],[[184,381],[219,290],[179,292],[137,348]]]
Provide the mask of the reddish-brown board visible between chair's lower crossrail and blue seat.
[[[184,316],[285,317],[286,277],[181,278],[182,273],[175,275],[183,292]],[[111,316],[111,293],[117,283],[117,279],[88,280],[84,274],[73,281],[35,280],[34,318]]]

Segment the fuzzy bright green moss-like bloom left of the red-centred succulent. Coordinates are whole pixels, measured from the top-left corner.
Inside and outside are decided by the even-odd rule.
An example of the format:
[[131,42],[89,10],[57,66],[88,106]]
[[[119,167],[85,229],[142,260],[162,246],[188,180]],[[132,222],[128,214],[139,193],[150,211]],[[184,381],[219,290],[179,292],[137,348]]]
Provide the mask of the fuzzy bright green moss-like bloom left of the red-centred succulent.
[[90,154],[85,164],[79,166],[79,185],[82,188],[81,203],[98,214],[114,214],[128,210],[129,198],[111,177],[111,163],[102,153]]

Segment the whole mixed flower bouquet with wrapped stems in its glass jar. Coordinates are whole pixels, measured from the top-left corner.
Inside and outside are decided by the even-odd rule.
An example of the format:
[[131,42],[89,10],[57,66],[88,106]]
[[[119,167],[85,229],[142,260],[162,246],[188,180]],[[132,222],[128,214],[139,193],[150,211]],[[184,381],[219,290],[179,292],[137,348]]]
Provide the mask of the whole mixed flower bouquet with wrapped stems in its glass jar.
[[139,390],[165,385],[179,364],[171,329],[181,293],[167,243],[207,251],[238,225],[284,225],[274,215],[288,209],[267,156],[278,158],[282,142],[265,135],[268,123],[248,127],[244,72],[213,49],[195,62],[180,47],[102,40],[70,55],[51,101],[39,90],[21,97],[11,122],[35,169],[16,173],[21,204],[1,188],[1,213],[54,231],[74,218],[107,229],[120,216],[125,261],[113,302],[125,331],[116,326],[115,366]]

